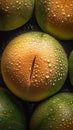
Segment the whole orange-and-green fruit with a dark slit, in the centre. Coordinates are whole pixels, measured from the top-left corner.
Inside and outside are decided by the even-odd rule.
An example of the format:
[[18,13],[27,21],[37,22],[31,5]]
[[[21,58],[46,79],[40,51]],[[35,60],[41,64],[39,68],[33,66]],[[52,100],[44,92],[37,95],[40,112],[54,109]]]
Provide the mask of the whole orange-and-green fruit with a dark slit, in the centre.
[[60,43],[42,32],[28,32],[5,48],[1,71],[8,88],[24,100],[38,101],[57,92],[68,62]]

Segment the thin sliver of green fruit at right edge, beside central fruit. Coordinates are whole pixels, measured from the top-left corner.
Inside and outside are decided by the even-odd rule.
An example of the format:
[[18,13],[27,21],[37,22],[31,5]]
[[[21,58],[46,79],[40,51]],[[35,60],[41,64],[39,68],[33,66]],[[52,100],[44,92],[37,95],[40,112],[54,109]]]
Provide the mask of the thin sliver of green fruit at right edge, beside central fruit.
[[71,84],[73,85],[73,51],[71,51],[69,56],[69,78]]

